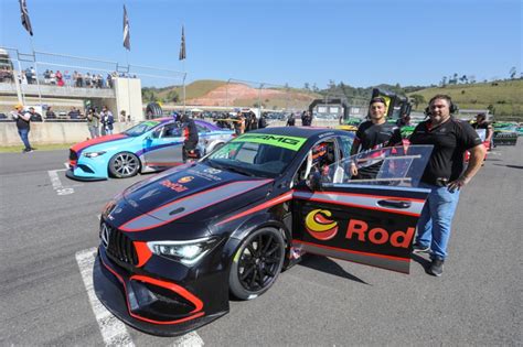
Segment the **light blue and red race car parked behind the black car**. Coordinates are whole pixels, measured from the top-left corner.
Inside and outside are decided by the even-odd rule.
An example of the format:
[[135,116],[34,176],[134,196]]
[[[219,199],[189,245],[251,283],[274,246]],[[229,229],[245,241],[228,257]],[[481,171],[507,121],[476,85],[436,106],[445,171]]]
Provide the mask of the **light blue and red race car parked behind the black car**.
[[[201,153],[209,153],[233,138],[233,131],[202,120],[198,128]],[[183,133],[173,118],[142,121],[122,133],[105,135],[73,145],[67,177],[83,181],[124,178],[179,165]]]

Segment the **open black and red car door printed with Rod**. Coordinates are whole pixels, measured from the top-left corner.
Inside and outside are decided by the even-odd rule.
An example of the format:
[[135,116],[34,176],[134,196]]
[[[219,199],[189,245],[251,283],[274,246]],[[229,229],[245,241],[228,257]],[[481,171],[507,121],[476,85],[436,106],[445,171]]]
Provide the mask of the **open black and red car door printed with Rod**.
[[[309,185],[313,191],[293,193],[292,246],[408,273],[416,224],[430,192],[418,184],[431,150],[385,148],[321,170],[319,182]],[[360,176],[350,175],[351,163]]]

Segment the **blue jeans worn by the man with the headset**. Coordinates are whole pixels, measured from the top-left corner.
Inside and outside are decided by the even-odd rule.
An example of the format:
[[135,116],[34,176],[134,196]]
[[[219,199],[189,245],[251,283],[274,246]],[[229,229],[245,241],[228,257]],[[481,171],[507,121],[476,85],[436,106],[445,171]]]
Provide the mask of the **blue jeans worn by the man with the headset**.
[[416,242],[425,247],[429,246],[433,259],[445,260],[459,191],[451,193],[447,187],[425,183],[420,183],[419,187],[429,188],[430,194],[418,220]]

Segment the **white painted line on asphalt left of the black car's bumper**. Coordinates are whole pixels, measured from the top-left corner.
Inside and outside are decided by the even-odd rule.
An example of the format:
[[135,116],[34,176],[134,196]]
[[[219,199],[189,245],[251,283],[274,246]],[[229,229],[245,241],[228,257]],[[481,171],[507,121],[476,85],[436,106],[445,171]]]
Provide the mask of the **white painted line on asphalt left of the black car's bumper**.
[[106,346],[135,346],[127,332],[125,324],[115,317],[96,297],[93,286],[93,268],[95,265],[96,248],[89,248],[76,252],[76,262],[78,263],[82,280],[89,297],[90,307],[100,328],[102,337]]

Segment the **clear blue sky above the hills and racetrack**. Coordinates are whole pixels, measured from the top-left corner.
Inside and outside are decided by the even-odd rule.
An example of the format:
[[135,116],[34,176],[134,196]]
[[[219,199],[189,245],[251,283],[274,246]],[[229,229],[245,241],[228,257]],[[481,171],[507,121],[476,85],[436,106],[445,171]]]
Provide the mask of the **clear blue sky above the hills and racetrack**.
[[[522,68],[521,0],[26,0],[36,51],[302,87],[505,78]],[[188,58],[178,61],[181,25]],[[0,0],[0,46],[30,52],[18,0]]]

